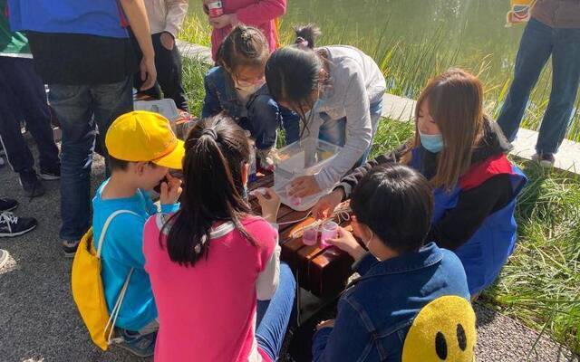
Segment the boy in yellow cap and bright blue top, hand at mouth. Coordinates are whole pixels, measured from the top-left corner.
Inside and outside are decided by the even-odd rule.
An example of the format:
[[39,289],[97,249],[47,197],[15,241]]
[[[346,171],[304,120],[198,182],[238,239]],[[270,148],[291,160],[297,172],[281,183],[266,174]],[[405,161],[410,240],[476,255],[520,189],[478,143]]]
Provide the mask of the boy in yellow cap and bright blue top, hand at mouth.
[[[119,346],[140,357],[152,356],[159,323],[149,276],[144,270],[143,225],[151,214],[172,213],[179,208],[181,181],[168,171],[181,168],[183,142],[176,138],[168,119],[157,113],[133,111],[111,124],[105,144],[111,157],[111,177],[92,199],[94,240],[99,240],[111,219],[101,255],[105,297],[111,313],[131,272],[115,322],[123,337]],[[160,210],[149,195],[158,185]]]

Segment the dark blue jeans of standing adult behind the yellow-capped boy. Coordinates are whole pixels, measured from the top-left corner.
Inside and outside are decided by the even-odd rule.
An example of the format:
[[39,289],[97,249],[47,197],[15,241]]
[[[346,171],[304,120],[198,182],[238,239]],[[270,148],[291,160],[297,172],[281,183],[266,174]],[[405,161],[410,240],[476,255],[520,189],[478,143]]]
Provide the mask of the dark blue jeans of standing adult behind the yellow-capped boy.
[[131,78],[111,84],[50,85],[49,100],[63,130],[63,240],[79,240],[91,226],[91,165],[97,128],[104,143],[111,122],[133,110]]

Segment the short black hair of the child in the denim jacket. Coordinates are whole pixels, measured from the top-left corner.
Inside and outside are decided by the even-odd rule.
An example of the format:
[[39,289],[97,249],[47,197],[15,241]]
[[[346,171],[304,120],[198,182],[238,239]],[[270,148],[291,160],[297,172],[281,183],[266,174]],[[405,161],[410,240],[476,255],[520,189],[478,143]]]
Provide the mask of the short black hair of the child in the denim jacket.
[[433,190],[418,171],[401,164],[372,168],[354,188],[357,221],[395,252],[417,252],[433,213]]

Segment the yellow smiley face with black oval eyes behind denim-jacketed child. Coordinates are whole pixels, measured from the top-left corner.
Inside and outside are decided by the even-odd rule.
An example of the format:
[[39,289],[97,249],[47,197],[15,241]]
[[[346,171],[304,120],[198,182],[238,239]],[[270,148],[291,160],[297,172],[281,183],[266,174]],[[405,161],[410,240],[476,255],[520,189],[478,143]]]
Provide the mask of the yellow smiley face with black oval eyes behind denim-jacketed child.
[[413,321],[402,362],[472,362],[475,313],[468,300],[445,296],[431,301]]

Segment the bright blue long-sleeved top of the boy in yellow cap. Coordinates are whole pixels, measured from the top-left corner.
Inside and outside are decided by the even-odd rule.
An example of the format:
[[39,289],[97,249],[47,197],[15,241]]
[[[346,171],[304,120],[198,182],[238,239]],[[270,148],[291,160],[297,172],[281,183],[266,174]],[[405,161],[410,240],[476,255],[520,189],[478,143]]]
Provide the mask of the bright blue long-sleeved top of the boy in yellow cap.
[[[125,198],[102,199],[102,183],[92,199],[92,231],[94,240],[101,237],[102,227],[107,218],[118,210],[129,210],[138,214],[118,214],[111,221],[102,243],[102,283],[109,312],[121,288],[133,268],[133,274],[121,311],[115,325],[122,329],[138,331],[157,318],[157,308],[153,300],[149,275],[144,269],[143,226],[152,214],[158,213],[150,195],[137,190],[135,195]],[[161,205],[161,212],[172,213],[179,204]]]

